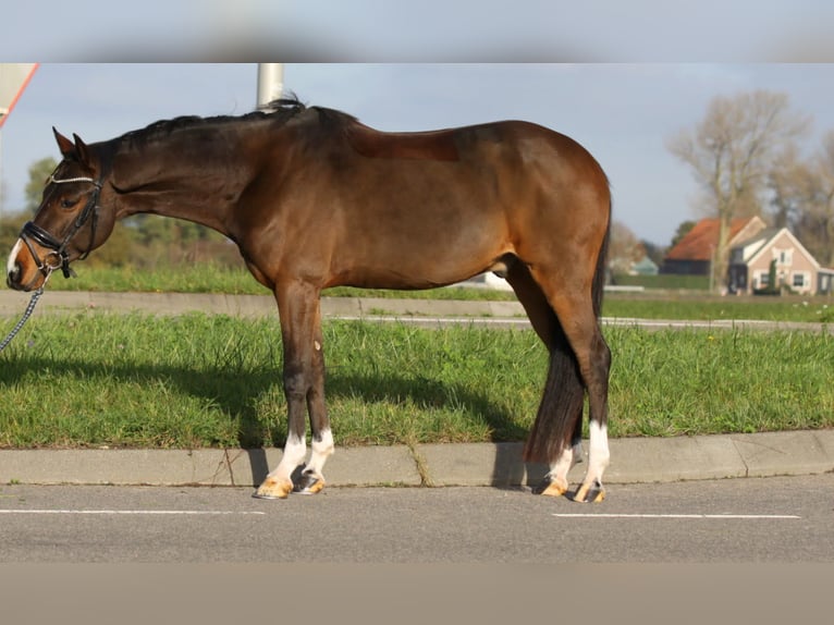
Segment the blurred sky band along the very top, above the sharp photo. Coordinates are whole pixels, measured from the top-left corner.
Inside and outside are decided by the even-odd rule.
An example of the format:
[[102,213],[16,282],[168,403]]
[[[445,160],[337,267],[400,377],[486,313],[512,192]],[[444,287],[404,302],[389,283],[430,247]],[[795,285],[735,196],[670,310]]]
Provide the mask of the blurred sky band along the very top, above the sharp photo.
[[33,60],[34,53],[38,61],[242,61],[262,51],[284,62],[831,61],[832,21],[830,0],[29,0],[3,11],[0,54]]

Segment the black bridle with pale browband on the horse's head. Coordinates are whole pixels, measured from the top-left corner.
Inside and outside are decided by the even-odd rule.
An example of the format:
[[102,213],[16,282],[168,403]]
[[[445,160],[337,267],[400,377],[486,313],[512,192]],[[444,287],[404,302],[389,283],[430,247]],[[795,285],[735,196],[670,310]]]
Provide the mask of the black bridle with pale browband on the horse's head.
[[[78,217],[75,218],[72,228],[70,228],[70,231],[66,233],[63,240],[59,241],[56,236],[32,221],[24,223],[23,229],[21,230],[21,241],[26,244],[26,247],[29,249],[29,254],[32,254],[32,257],[35,259],[35,262],[38,266],[38,270],[45,277],[49,278],[52,271],[60,267],[64,278],[70,278],[71,275],[74,275],[74,272],[72,269],[70,269],[70,255],[66,253],[66,246],[78,233],[78,231],[84,228],[84,224],[87,223],[87,221],[90,221],[89,245],[87,246],[87,249],[82,253],[78,259],[84,260],[93,249],[93,242],[96,238],[96,225],[98,222],[98,196],[101,192],[101,183],[95,179],[85,176],[57,180],[54,175],[49,176],[49,182],[53,182],[56,184],[88,182],[95,187],[89,194],[87,204],[78,213]],[[41,247],[51,249],[51,252],[41,260],[32,245],[33,242],[37,243]]]

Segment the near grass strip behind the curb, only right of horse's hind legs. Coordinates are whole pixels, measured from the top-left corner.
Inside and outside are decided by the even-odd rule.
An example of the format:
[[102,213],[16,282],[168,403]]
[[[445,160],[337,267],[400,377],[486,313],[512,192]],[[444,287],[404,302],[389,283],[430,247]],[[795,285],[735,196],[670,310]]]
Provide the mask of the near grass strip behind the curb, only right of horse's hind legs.
[[834,345],[827,334],[636,328],[608,334],[613,436],[834,426],[834,391],[826,381]]

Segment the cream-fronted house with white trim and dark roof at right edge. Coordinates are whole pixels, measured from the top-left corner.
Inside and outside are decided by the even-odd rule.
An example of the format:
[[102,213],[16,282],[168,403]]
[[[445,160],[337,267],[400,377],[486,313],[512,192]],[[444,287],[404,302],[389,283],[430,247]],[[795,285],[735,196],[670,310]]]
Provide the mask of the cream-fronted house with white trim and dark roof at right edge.
[[731,247],[729,292],[750,294],[768,289],[772,264],[777,292],[787,289],[802,295],[832,293],[834,270],[820,267],[786,228],[762,230]]

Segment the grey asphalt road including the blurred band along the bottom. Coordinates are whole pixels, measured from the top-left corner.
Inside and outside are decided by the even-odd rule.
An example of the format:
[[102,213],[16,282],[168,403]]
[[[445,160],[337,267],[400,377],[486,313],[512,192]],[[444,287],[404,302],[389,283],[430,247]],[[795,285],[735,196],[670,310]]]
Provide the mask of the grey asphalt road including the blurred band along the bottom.
[[[523,489],[0,487],[3,623],[824,623],[834,475]],[[587,515],[587,516],[586,516]]]

